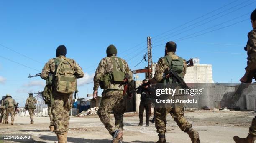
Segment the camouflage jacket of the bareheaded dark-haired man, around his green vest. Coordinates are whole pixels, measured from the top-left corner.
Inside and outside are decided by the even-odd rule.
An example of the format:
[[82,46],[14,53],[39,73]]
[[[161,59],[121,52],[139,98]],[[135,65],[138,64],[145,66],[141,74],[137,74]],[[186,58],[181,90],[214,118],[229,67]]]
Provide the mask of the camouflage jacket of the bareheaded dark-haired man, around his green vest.
[[[172,57],[172,59],[178,59],[178,56],[174,53],[174,52],[168,52],[167,53],[170,57]],[[187,70],[187,64],[186,64],[186,60],[184,60],[184,73],[183,75],[186,74],[186,70]],[[153,79],[150,80],[150,82],[161,82],[163,80],[163,75],[168,74],[169,71],[169,64],[164,62],[163,58],[160,58],[156,64],[156,71],[154,74]]]

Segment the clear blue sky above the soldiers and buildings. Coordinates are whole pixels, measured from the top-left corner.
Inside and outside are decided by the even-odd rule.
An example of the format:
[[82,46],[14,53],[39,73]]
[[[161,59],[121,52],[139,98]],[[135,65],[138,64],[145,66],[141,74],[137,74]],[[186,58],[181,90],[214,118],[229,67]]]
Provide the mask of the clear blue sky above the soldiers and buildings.
[[[92,81],[109,44],[130,67],[138,64],[146,53],[147,36],[152,37],[154,62],[164,54],[161,44],[176,40],[179,56],[212,64],[215,82],[239,82],[254,9],[255,0],[1,1],[0,44],[15,52],[0,46],[0,96],[10,93],[23,105],[28,92],[42,91],[44,80],[27,76],[39,73],[60,44],[84,69],[82,84]],[[92,93],[92,86],[79,86],[79,96]]]

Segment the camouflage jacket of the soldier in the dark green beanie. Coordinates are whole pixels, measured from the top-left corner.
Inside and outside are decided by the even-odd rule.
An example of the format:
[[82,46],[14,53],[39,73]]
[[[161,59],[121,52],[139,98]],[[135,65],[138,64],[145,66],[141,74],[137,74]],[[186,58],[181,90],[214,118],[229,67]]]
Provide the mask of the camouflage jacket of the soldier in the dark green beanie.
[[[111,56],[111,57],[116,57],[116,56]],[[100,86],[100,77],[103,74],[106,73],[111,73],[113,72],[113,63],[111,60],[111,57],[105,57],[100,61],[99,66],[96,69],[95,72],[95,76],[93,78],[94,81],[94,86],[93,86],[93,90],[98,90],[99,86]],[[120,67],[118,65],[119,61],[117,58],[115,58],[115,61],[117,62],[117,70],[120,70]],[[133,74],[127,64],[127,62],[124,59],[121,59],[121,61],[123,62],[123,69],[125,69],[125,74],[128,74],[131,78],[129,79],[129,82],[131,82],[133,80]],[[107,89],[104,90],[108,90],[108,89],[115,89],[115,90],[123,90],[124,86],[119,86],[119,84],[111,84],[110,87],[108,87]]]

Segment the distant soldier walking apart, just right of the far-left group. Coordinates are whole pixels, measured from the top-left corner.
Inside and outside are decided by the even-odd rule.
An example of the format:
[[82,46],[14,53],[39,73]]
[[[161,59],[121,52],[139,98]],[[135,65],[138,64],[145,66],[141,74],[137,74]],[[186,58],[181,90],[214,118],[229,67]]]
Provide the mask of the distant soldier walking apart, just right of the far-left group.
[[30,124],[34,123],[34,110],[36,109],[37,101],[36,98],[33,97],[33,93],[28,94],[29,97],[27,98],[26,104],[25,104],[25,109],[29,111],[29,116],[30,116]]

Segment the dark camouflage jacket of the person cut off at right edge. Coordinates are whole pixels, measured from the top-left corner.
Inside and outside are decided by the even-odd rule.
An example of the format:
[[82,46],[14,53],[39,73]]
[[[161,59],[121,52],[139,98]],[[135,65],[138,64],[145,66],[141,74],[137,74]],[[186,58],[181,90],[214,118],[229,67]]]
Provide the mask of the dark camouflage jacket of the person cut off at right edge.
[[246,73],[248,75],[255,74],[256,70],[256,29],[252,30],[248,33],[248,41],[247,41],[247,67]]

